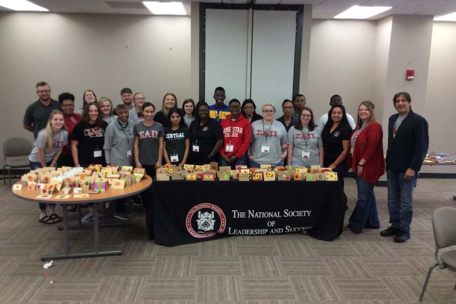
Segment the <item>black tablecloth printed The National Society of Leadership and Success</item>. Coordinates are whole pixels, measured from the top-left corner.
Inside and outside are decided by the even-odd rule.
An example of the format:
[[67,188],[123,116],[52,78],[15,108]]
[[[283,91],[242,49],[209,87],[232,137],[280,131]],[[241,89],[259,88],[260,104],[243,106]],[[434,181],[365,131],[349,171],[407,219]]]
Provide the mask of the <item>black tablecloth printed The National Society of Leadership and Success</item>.
[[146,204],[149,239],[177,246],[234,235],[307,230],[332,241],[345,200],[337,181],[154,181]]

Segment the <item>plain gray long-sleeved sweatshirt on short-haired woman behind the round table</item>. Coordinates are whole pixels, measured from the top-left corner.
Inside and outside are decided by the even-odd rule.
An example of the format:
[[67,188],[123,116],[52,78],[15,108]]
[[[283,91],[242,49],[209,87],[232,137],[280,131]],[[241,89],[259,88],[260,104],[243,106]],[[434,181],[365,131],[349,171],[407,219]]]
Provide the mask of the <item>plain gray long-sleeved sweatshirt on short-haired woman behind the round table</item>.
[[106,163],[115,166],[133,166],[134,124],[132,121],[128,121],[128,125],[125,128],[122,128],[121,124],[116,119],[106,128],[103,145]]

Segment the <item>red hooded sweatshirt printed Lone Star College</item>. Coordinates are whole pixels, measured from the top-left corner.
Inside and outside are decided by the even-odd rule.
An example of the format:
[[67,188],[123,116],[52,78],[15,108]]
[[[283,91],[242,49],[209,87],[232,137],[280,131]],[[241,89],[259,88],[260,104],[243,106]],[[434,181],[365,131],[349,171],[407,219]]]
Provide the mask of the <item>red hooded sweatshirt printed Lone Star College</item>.
[[[252,136],[252,128],[249,121],[242,114],[239,114],[236,121],[232,121],[231,115],[228,115],[226,119],[220,122],[220,126],[223,131],[224,141],[219,151],[220,155],[243,157],[249,149]],[[233,145],[233,152],[225,152],[227,144]]]

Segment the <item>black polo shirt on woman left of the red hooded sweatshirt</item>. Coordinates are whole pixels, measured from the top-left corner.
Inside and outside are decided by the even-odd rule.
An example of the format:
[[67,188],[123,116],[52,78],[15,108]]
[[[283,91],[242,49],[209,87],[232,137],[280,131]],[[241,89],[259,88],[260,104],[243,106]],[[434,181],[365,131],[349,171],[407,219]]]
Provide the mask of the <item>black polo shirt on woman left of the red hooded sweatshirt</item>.
[[[203,126],[196,126],[195,121],[190,124],[190,154],[207,156],[212,152],[215,143],[223,139],[223,133],[215,119],[208,120]],[[198,145],[199,152],[193,151],[193,145]]]

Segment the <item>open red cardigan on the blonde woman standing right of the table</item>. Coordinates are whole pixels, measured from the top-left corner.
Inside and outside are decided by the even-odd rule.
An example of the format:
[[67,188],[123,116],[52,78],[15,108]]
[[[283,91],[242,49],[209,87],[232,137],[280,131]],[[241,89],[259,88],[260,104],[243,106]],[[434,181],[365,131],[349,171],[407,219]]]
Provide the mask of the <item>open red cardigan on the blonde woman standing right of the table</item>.
[[[357,128],[353,130],[352,137],[356,130]],[[350,144],[351,142],[352,141],[350,140]],[[363,171],[361,172],[361,178],[371,184],[375,184],[378,178],[385,174],[383,130],[381,124],[371,122],[366,129],[358,135],[355,142],[355,149],[353,150],[353,157],[349,152],[347,165],[356,172],[358,163],[361,159],[366,160],[366,164],[363,166]]]

